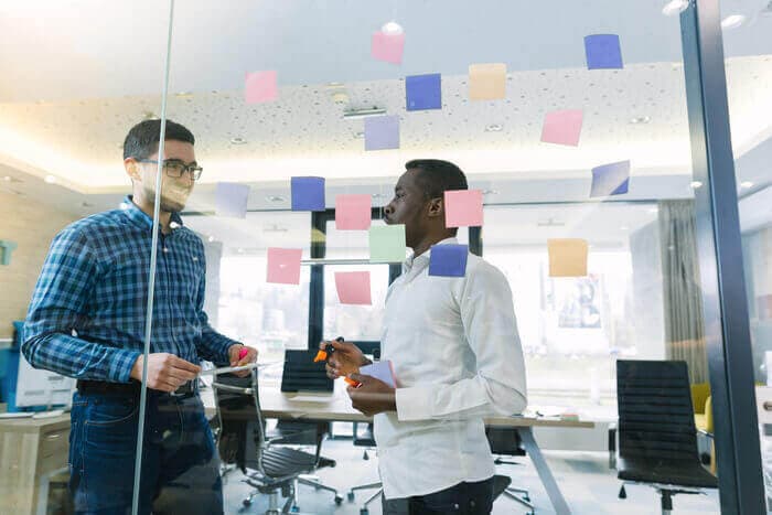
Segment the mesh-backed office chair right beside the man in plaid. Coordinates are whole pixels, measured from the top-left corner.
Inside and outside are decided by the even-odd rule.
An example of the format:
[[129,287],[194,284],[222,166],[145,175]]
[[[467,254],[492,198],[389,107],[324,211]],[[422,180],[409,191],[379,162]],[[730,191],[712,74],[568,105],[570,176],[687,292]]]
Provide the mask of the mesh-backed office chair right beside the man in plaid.
[[[217,376],[212,388],[219,421],[217,448],[221,459],[224,463],[236,463],[247,474],[246,483],[256,489],[244,500],[244,505],[249,506],[258,493],[264,493],[269,495],[267,515],[297,511],[298,484],[302,482],[317,486],[313,482],[303,481],[303,475],[321,466],[330,466],[319,455],[321,439],[315,454],[312,454],[280,446],[290,443],[290,434],[285,433],[276,440],[266,437],[257,369],[244,378],[234,375]],[[247,472],[247,469],[255,472]],[[287,497],[280,512],[279,491]],[[335,503],[341,504],[343,498],[334,490],[333,492]]]

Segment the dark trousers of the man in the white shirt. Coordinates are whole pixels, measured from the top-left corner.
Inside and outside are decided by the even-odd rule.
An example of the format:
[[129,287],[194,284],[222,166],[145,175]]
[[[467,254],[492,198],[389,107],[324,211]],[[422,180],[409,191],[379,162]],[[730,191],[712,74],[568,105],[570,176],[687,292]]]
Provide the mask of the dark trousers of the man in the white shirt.
[[384,515],[487,515],[493,509],[493,478],[459,483],[439,492],[407,498],[383,498]]

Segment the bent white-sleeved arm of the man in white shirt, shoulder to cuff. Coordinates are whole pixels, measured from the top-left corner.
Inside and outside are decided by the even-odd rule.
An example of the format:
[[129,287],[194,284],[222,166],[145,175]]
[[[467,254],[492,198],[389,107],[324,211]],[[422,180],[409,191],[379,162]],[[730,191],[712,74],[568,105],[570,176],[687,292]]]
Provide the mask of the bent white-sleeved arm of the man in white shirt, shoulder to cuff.
[[467,279],[459,304],[476,375],[449,385],[397,388],[399,420],[510,416],[526,407],[525,364],[506,277],[480,264]]

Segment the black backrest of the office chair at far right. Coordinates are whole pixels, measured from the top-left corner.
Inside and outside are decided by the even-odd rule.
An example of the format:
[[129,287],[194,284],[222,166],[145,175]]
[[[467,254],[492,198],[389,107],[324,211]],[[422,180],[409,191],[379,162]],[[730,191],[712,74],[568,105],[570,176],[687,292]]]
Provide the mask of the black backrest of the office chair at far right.
[[685,362],[618,360],[616,405],[620,458],[699,460]]

